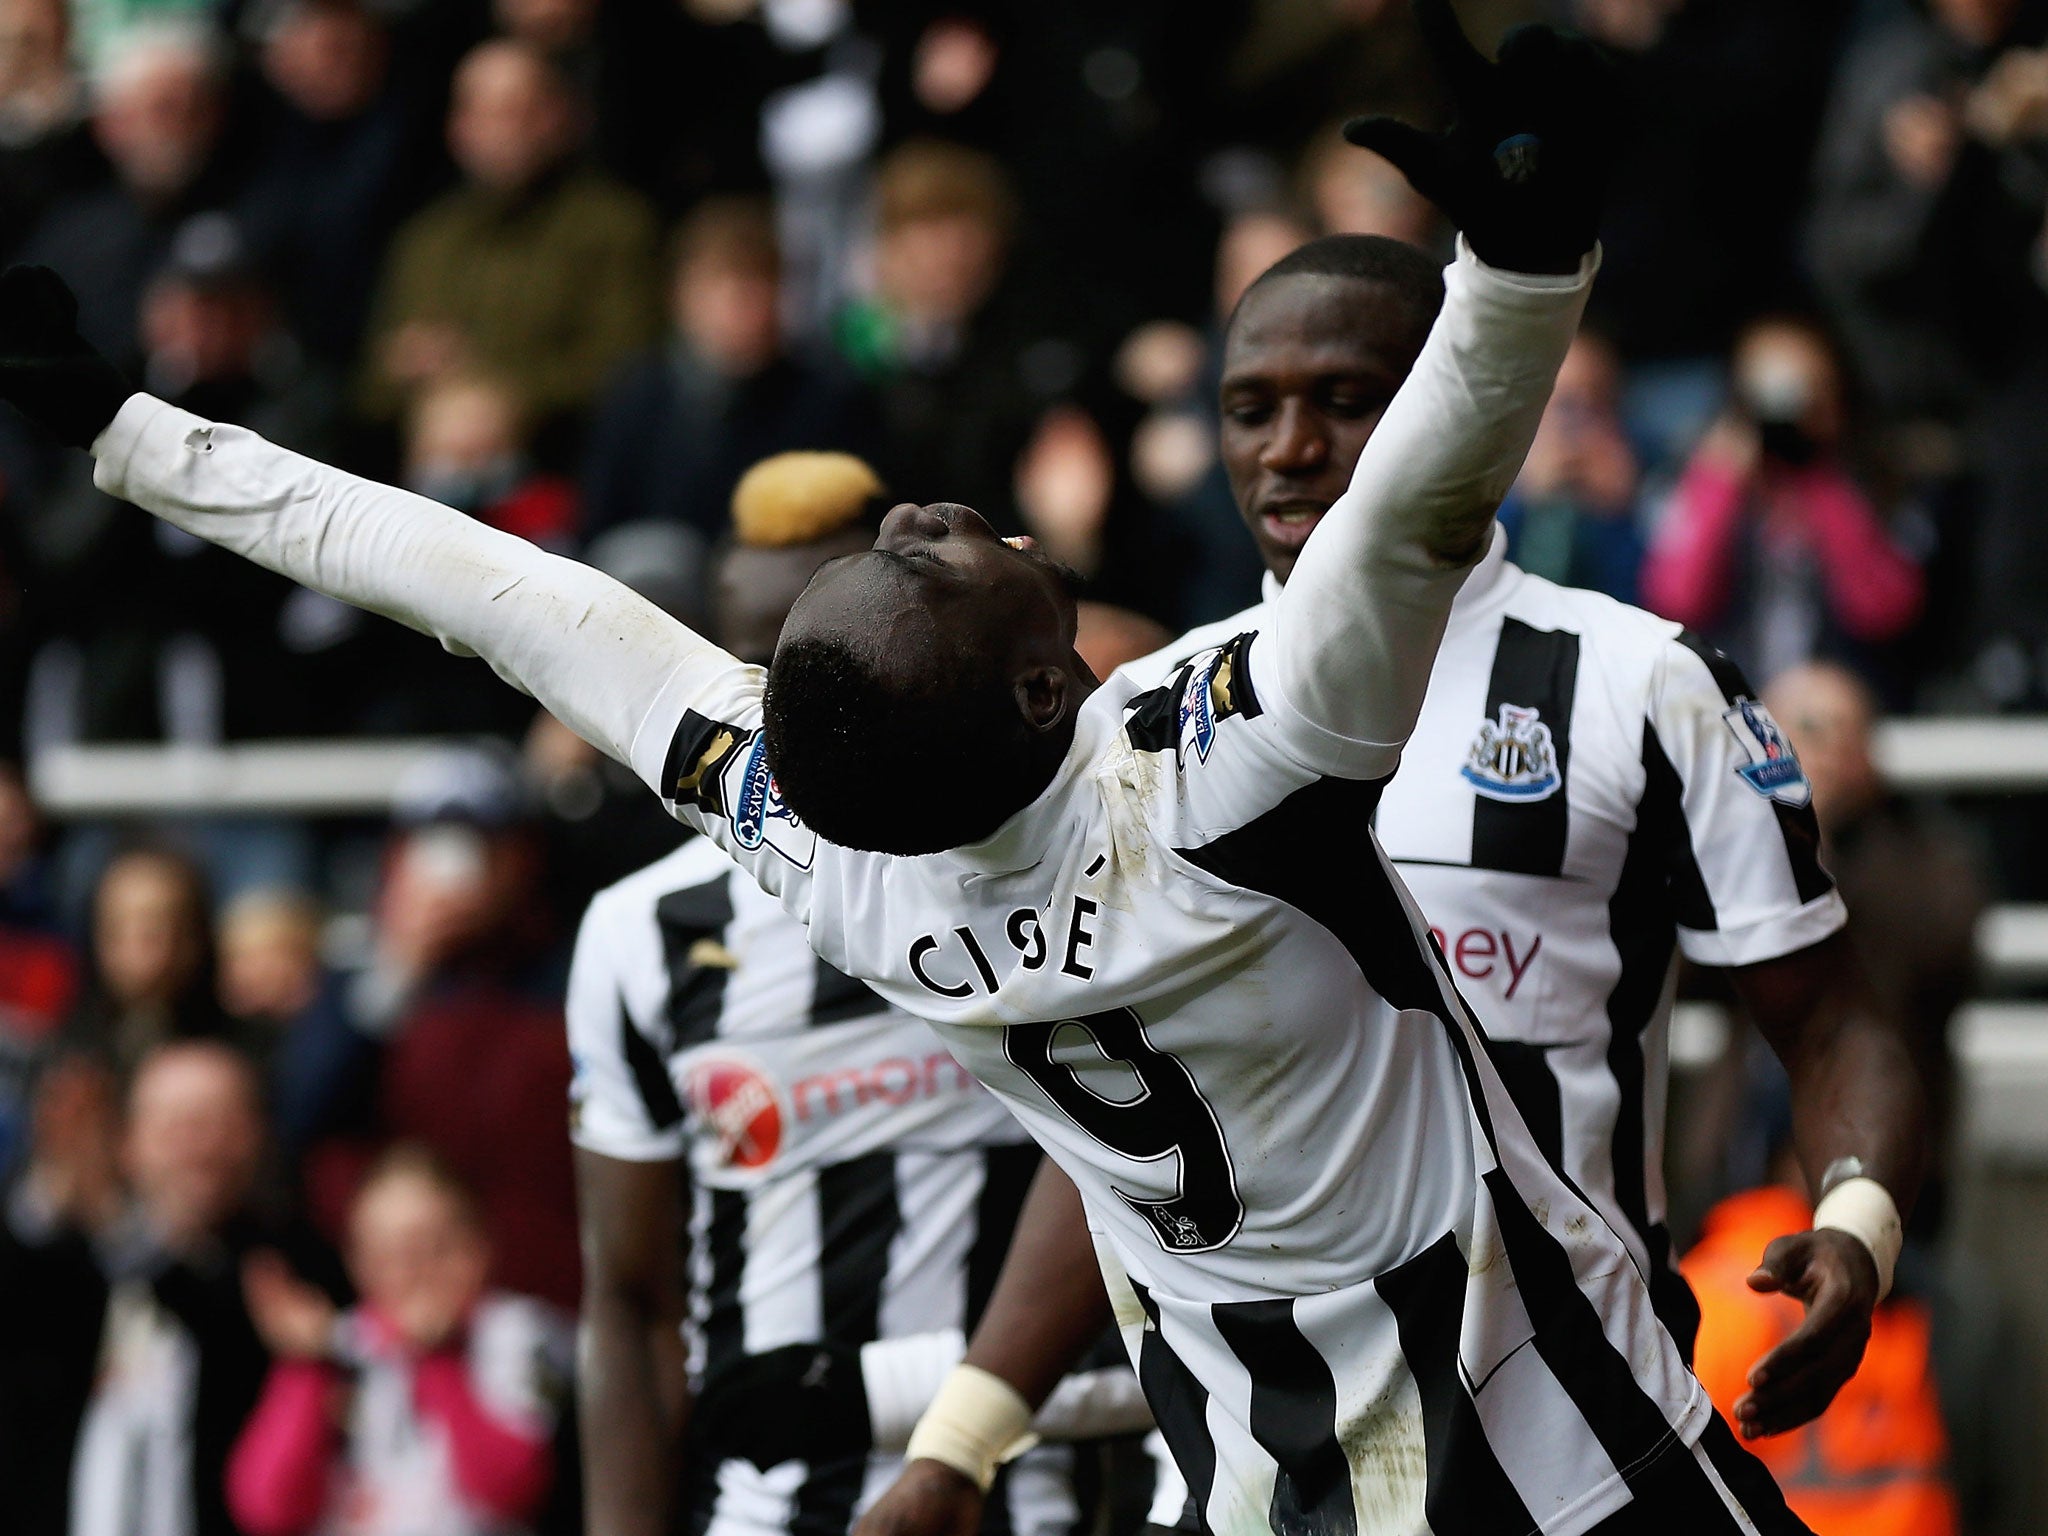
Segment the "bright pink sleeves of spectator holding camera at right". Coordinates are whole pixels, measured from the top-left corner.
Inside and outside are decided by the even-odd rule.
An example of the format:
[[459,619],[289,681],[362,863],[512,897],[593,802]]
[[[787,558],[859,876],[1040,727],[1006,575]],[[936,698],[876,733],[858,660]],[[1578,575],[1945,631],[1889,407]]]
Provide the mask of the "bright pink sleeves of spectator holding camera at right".
[[1890,639],[1919,616],[1919,565],[1898,551],[1841,467],[1780,469],[1757,481],[1710,455],[1686,469],[1671,516],[1642,563],[1645,604],[1688,629],[1716,625],[1735,592],[1745,516],[1755,516],[1765,545],[1806,547],[1829,612],[1853,639]]

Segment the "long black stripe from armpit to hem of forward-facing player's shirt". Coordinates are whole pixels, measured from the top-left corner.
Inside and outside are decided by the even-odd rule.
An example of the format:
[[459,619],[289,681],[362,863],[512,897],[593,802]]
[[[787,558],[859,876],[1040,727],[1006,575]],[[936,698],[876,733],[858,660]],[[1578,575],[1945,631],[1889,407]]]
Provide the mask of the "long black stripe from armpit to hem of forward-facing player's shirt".
[[1673,924],[1714,926],[1714,907],[1692,852],[1681,795],[1677,770],[1665,758],[1657,731],[1645,725],[1642,799],[1636,803],[1636,825],[1622,852],[1620,879],[1608,899],[1608,934],[1622,963],[1608,993],[1608,1071],[1620,1090],[1608,1161],[1622,1219],[1649,1249],[1651,1272],[1645,1280],[1651,1305],[1690,1362],[1700,1331],[1700,1305],[1671,1266],[1671,1235],[1661,1225],[1651,1225],[1642,1108],[1649,1090],[1642,1034],[1663,1001],[1671,952],[1677,946]]

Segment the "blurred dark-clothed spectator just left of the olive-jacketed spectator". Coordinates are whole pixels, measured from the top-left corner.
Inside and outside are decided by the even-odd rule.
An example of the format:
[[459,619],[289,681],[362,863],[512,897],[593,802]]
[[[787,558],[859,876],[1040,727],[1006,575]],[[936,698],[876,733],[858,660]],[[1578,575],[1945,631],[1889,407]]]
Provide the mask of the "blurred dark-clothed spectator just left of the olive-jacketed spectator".
[[338,371],[356,356],[385,244],[428,190],[436,156],[422,92],[399,78],[379,10],[281,0],[260,16],[272,96],[236,211],[276,276],[293,334]]

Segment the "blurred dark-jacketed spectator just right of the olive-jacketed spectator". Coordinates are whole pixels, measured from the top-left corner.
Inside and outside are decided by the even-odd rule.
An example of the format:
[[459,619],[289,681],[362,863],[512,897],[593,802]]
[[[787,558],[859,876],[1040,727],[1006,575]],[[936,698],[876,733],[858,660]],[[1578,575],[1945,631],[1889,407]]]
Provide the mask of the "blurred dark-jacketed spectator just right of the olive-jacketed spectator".
[[713,197],[682,221],[670,338],[627,365],[590,426],[586,526],[662,520],[707,541],[748,465],[793,449],[872,453],[874,403],[782,334],[782,258],[766,201]]

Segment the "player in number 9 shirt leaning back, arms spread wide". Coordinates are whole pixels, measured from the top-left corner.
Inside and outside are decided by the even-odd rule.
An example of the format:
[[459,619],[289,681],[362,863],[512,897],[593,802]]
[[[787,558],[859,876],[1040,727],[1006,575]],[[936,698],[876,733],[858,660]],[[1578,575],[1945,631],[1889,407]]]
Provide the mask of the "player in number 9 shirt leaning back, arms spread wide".
[[1098,684],[1061,573],[950,504],[827,565],[762,674],[584,567],[125,395],[49,274],[0,281],[0,393],[104,489],[487,657],[928,1018],[1079,1186],[1212,1528],[1798,1530],[1366,827],[1577,326],[1614,133],[1583,45],[1528,31],[1493,66],[1419,12],[1460,121],[1366,137],[1464,229],[1444,311],[1272,629],[1155,686]]

